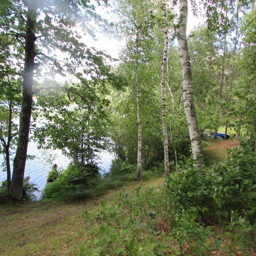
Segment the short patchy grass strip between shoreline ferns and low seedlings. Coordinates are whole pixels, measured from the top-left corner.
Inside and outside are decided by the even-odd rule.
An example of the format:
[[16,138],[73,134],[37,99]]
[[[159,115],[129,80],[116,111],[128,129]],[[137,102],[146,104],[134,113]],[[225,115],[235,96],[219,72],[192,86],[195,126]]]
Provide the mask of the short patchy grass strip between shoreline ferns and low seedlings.
[[[125,189],[132,193],[138,186],[159,187],[164,178],[135,182]],[[0,255],[75,255],[87,236],[82,213],[101,210],[102,202],[118,200],[120,190],[87,202],[33,202],[0,206]]]

